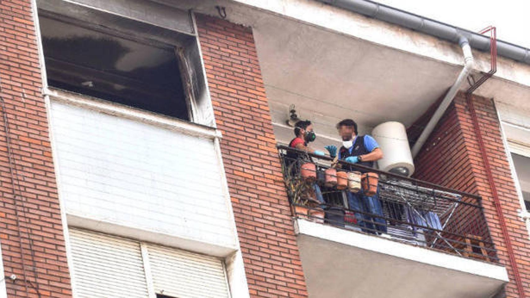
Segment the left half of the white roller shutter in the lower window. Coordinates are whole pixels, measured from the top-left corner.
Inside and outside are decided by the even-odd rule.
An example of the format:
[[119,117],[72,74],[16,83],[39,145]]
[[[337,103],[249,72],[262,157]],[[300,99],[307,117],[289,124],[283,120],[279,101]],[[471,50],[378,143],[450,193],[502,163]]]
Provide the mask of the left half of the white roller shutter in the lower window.
[[69,229],[77,297],[148,297],[140,243]]

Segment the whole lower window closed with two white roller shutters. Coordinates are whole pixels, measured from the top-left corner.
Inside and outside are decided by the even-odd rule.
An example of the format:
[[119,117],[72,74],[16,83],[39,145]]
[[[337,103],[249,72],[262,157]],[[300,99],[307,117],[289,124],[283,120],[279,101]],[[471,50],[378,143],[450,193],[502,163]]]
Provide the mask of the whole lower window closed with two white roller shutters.
[[68,231],[80,298],[229,297],[220,259],[89,230]]

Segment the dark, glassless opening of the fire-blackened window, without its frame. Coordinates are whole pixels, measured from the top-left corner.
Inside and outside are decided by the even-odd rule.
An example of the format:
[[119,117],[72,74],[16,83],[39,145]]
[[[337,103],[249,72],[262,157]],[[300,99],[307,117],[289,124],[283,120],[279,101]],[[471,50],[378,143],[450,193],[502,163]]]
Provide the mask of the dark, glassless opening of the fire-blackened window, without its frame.
[[48,84],[190,120],[175,48],[40,17]]

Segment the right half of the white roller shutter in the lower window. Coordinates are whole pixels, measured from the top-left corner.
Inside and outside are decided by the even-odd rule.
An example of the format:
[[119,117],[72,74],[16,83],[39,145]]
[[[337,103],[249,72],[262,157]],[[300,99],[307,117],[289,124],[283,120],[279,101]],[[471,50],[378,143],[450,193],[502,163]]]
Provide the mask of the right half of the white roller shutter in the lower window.
[[155,292],[179,298],[229,297],[221,260],[147,245]]

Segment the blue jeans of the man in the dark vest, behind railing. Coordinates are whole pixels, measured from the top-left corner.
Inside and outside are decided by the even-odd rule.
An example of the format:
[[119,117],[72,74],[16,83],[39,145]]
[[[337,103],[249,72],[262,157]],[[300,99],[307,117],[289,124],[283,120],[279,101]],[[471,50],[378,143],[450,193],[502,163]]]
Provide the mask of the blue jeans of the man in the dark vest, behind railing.
[[[379,216],[383,215],[383,206],[379,201],[379,188],[373,196],[366,196],[361,189],[358,193],[346,192],[348,196],[348,208],[353,211],[372,213]],[[355,213],[357,224],[363,232],[375,234],[377,232],[386,233],[386,220],[374,218],[369,214]]]

